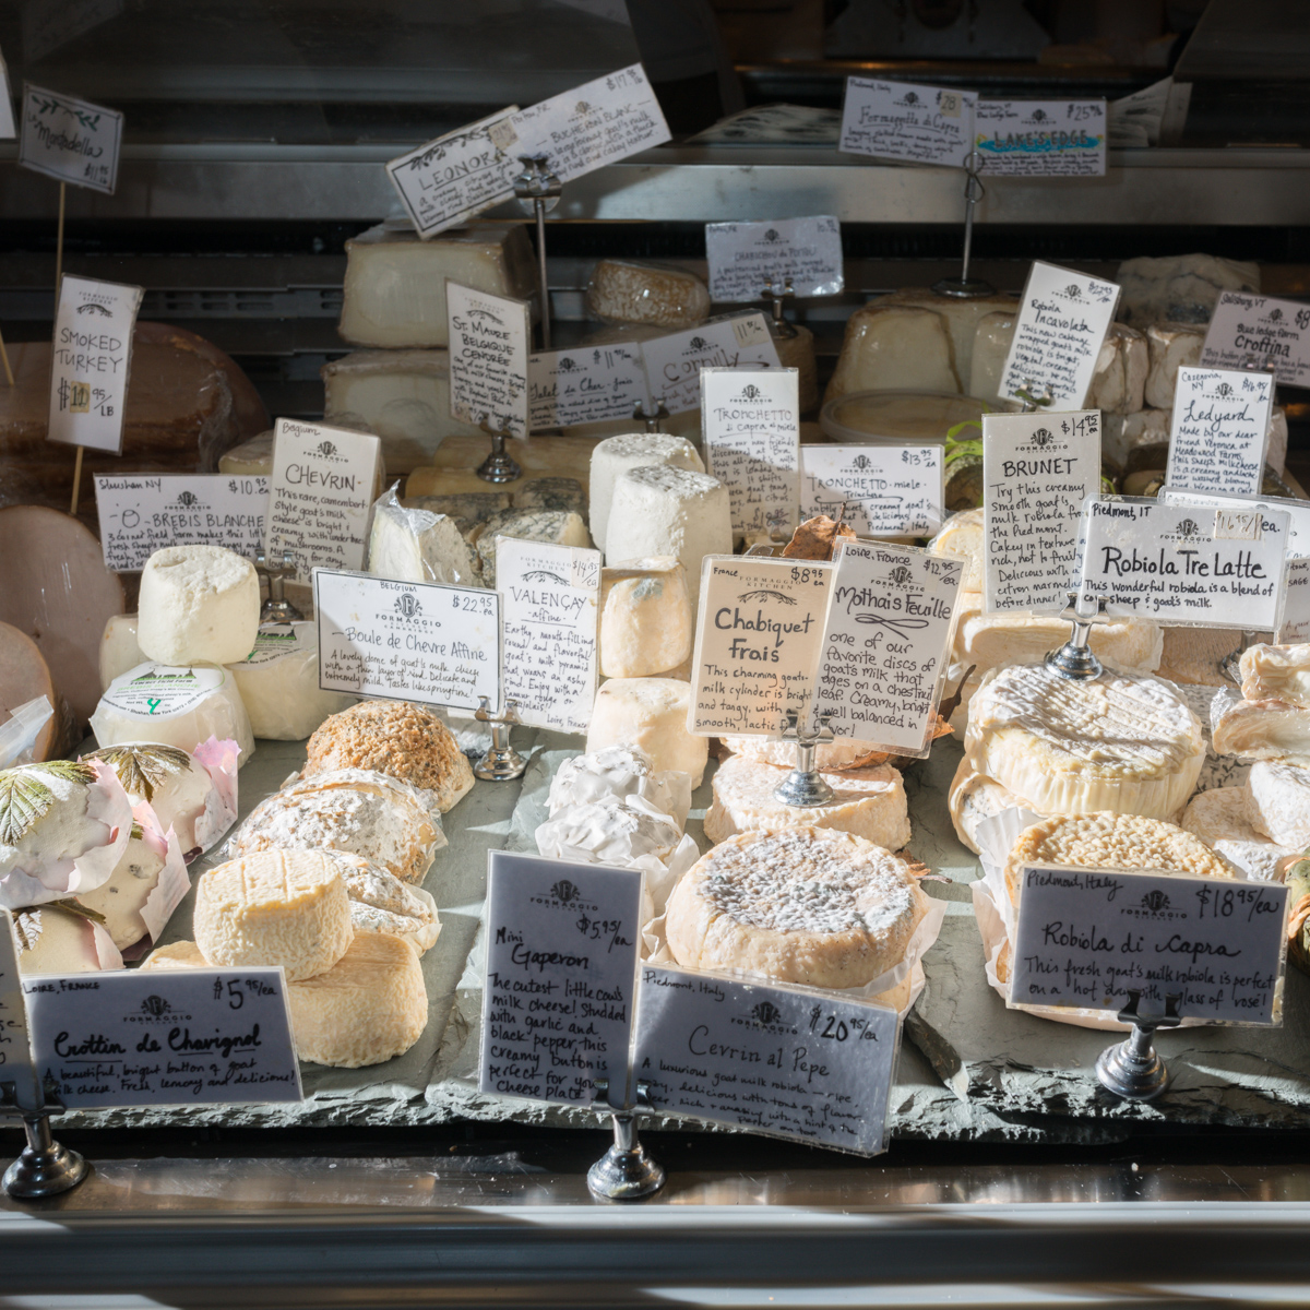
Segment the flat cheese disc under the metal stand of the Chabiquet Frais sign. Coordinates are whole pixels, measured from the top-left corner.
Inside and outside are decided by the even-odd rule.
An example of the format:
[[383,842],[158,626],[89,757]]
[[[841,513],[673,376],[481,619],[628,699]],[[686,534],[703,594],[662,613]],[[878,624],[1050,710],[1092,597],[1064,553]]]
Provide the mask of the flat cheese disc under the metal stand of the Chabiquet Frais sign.
[[732,756],[714,774],[714,803],[705,815],[705,836],[724,841],[741,832],[777,828],[831,828],[863,837],[875,846],[909,845],[905,783],[889,764],[849,773],[820,773],[833,796],[824,806],[787,806],[774,790],[791,770]]

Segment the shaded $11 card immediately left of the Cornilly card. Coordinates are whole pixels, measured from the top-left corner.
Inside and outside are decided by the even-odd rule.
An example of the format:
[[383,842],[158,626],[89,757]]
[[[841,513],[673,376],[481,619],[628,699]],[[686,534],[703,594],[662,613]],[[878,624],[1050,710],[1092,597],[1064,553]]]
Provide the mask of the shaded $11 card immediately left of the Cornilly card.
[[548,350],[528,359],[528,426],[533,432],[631,419],[634,406],[645,405],[646,396],[646,367],[635,342]]

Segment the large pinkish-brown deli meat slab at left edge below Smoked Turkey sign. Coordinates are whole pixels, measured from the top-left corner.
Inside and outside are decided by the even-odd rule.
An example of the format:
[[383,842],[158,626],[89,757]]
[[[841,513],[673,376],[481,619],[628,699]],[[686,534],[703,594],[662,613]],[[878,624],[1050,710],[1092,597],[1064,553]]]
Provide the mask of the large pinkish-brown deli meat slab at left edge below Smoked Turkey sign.
[[90,531],[45,506],[0,510],[0,621],[37,643],[55,689],[84,724],[100,696],[105,625],[127,608],[122,582],[105,567]]

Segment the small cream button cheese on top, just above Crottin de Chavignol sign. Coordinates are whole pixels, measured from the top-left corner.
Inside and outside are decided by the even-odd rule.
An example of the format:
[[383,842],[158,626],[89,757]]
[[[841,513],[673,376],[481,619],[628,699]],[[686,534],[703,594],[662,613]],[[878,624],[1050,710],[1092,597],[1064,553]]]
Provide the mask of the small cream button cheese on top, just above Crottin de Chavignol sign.
[[196,883],[195,942],[211,964],[282,965],[287,979],[330,969],[355,935],[341,869],[317,850],[261,850]]

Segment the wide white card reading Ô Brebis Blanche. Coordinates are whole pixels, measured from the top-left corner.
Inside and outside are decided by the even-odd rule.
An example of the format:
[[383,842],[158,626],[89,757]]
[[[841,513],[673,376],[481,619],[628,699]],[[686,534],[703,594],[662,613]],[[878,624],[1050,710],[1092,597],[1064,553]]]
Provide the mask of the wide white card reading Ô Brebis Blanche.
[[223,546],[253,559],[263,545],[269,479],[228,473],[96,476],[105,567],[135,572],[164,546]]

